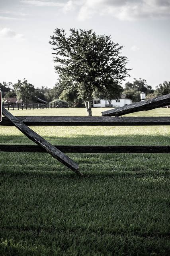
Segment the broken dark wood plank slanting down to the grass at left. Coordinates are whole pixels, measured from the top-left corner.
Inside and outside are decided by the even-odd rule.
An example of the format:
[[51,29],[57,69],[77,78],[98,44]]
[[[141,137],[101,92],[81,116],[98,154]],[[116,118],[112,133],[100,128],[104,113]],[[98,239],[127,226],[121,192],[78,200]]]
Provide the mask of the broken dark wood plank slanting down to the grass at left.
[[23,124],[23,122],[21,122],[18,118],[13,116],[4,107],[2,107],[2,114],[6,118],[8,118],[16,126],[16,128],[18,128],[30,140],[35,142],[37,145],[39,145],[41,148],[43,148],[45,151],[51,154],[51,156],[53,156],[54,158],[59,160],[61,163],[63,163],[65,166],[67,166],[77,174],[82,175],[82,173],[78,171],[78,164],[76,162],[74,162],[68,156],[63,154],[63,152],[61,152],[58,148],[56,148],[55,146],[47,142],[47,140],[39,136],[39,134],[31,130],[26,124]]

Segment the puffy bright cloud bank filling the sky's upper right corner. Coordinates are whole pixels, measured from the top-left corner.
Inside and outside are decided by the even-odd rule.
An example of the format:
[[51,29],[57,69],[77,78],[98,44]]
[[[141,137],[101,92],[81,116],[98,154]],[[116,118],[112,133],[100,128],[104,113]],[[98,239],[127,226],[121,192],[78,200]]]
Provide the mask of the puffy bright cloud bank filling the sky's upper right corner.
[[119,20],[170,18],[170,0],[84,0],[78,20],[92,18],[94,14],[109,14]]

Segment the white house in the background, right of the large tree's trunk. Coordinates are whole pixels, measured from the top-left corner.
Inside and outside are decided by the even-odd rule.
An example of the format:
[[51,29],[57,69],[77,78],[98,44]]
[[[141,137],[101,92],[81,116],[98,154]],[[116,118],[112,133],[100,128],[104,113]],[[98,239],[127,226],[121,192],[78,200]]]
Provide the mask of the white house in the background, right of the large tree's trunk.
[[[100,107],[100,108],[105,108],[109,107],[109,102],[108,100],[100,100],[100,99],[93,99],[92,104],[94,108]],[[126,105],[132,104],[132,100],[126,98],[126,94],[121,94],[121,98],[117,100],[112,100],[111,101],[111,107],[112,108],[117,108],[117,107],[123,107]]]

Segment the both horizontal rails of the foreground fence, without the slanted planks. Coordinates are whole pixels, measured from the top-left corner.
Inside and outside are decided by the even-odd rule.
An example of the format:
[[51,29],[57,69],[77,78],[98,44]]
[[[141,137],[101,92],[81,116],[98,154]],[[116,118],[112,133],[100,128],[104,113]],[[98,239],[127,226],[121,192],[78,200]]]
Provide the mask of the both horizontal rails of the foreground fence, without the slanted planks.
[[[163,126],[170,125],[169,117],[112,117],[112,116],[17,116],[27,126]],[[7,118],[0,125],[14,126]],[[74,153],[170,153],[170,146],[62,146],[62,152]],[[39,146],[0,145],[6,152],[46,152]]]

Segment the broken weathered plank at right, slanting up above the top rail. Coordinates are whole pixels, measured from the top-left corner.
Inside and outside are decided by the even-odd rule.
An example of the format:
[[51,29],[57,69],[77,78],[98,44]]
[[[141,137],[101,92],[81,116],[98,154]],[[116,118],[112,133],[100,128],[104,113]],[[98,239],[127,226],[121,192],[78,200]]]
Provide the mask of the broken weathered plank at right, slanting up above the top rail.
[[138,111],[160,108],[166,105],[170,105],[170,94],[166,94],[149,100],[143,100],[141,102],[132,103],[120,108],[113,108],[111,110],[102,112],[102,116],[122,116]]

